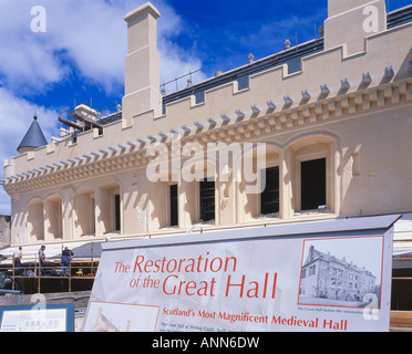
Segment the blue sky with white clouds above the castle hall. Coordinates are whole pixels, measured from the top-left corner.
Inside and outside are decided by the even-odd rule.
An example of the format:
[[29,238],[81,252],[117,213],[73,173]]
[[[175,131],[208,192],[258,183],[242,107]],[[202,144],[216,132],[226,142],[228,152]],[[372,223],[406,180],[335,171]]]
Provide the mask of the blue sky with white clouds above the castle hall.
[[[145,0],[0,0],[0,159],[16,156],[34,112],[50,142],[64,108],[122,101],[124,15]],[[411,0],[389,0],[389,10]],[[194,82],[319,35],[327,0],[153,0],[159,10],[161,83],[199,70]],[[34,6],[45,10],[47,32],[32,32]],[[185,85],[182,81],[181,85]],[[174,84],[166,90],[173,91]],[[0,169],[0,179],[3,178]],[[10,198],[0,187],[0,214]]]

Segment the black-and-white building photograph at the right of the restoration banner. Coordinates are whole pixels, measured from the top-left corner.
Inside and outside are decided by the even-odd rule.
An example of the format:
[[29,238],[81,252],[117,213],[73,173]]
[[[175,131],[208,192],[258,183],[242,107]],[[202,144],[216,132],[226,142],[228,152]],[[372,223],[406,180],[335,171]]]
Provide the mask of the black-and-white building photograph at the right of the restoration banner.
[[380,309],[383,237],[305,240],[299,304]]

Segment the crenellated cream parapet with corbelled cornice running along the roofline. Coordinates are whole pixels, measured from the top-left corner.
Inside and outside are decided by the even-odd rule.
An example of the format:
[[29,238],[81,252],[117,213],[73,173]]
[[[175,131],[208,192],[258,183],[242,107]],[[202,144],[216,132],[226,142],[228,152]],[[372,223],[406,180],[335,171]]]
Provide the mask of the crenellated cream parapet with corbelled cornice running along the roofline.
[[349,54],[343,43],[302,58],[299,71],[289,72],[288,64],[269,67],[250,74],[245,86],[234,80],[206,90],[202,102],[192,94],[166,102],[164,111],[156,103],[133,114],[124,100],[122,119],[105,124],[103,132],[52,138],[6,160],[4,188],[21,192],[143,166],[150,160],[147,146],[169,143],[176,133],[202,144],[247,140],[411,102],[412,52],[402,45],[410,38],[411,23],[394,27],[367,37],[357,53]]

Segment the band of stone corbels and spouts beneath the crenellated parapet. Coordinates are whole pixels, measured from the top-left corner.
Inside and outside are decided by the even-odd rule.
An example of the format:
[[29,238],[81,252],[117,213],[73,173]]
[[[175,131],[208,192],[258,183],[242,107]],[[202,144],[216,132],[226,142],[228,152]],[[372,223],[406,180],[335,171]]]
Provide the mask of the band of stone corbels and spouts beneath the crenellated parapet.
[[[368,77],[365,77],[368,81]],[[346,83],[342,82],[342,90]],[[250,112],[236,111],[234,116],[223,113],[220,119],[209,118],[206,123],[195,123],[195,128],[184,126],[181,133],[181,145],[197,142],[204,146],[207,143],[246,142],[261,135],[274,135],[292,128],[310,126],[318,123],[341,118],[367,115],[373,112],[395,107],[399,104],[412,102],[412,77],[389,82],[379,86],[351,91],[328,97],[329,92],[323,88],[325,97],[307,104],[288,106],[288,97],[285,105],[279,108],[269,101],[266,107],[251,105]],[[309,96],[308,96],[309,94]],[[302,92],[310,97],[310,93]],[[156,138],[153,136],[153,138]],[[117,147],[107,147],[100,153],[83,154],[78,159],[68,162],[51,162],[47,168],[33,169],[12,176],[4,180],[4,190],[13,196],[44,189],[52,186],[62,186],[90,178],[96,178],[110,174],[142,168],[153,158],[146,155],[147,143],[137,139],[138,143],[127,142]],[[163,134],[156,140],[171,145],[171,135]],[[154,143],[157,144],[157,143]]]

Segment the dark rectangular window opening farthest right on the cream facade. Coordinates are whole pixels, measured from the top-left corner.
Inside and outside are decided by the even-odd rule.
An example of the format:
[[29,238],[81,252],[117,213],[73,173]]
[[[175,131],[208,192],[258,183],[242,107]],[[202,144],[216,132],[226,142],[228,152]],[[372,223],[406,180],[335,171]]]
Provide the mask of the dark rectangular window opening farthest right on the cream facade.
[[301,210],[318,209],[327,204],[326,158],[301,163]]

